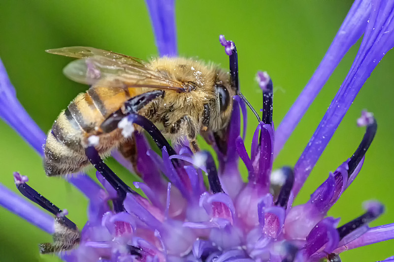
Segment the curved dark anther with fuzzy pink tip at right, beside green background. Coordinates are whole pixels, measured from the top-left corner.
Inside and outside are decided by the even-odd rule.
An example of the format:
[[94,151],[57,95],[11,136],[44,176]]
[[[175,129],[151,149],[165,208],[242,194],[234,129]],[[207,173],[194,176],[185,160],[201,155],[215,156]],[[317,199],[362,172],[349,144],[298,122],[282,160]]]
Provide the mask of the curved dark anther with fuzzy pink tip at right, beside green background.
[[357,123],[359,126],[366,126],[366,130],[360,146],[356,149],[348,162],[349,176],[352,175],[353,172],[356,170],[357,166],[360,164],[362,157],[365,155],[369,146],[371,146],[371,143],[376,135],[376,130],[378,128],[378,125],[373,115],[366,111],[363,111],[361,113],[361,117],[357,120]]

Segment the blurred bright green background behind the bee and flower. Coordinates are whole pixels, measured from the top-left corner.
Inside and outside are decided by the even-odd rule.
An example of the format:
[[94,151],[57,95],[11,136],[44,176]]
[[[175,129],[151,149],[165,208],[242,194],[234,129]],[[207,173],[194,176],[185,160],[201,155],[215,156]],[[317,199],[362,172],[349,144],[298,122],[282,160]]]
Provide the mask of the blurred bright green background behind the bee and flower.
[[[219,34],[225,34],[237,45],[241,89],[255,108],[259,109],[262,101],[255,82],[257,70],[268,71],[273,79],[274,122],[278,125],[326,53],[351,3],[351,0],[179,0],[176,3],[179,54],[214,61],[227,68],[228,56],[218,40]],[[359,44],[339,64],[275,161],[275,168],[296,163],[345,78]],[[0,57],[19,100],[45,132],[59,112],[87,87],[63,76],[62,68],[70,61],[68,58],[49,55],[44,50],[77,45],[143,59],[157,55],[142,0],[0,1]],[[362,88],[296,204],[307,201],[328,172],[351,156],[364,132],[356,126],[356,119],[362,109],[368,109],[378,121],[377,136],[361,174],[328,214],[342,217],[343,224],[363,212],[363,201],[376,199],[386,205],[387,211],[371,226],[394,222],[392,53],[386,55]],[[246,145],[250,144],[254,128],[255,121],[249,121]],[[64,179],[46,177],[40,157],[1,120],[0,134],[0,182],[16,192],[12,172],[29,175],[30,185],[59,207],[67,208],[68,217],[82,228],[87,219],[84,196]],[[112,160],[108,164],[131,183],[133,176],[126,170]],[[50,235],[0,207],[1,262],[58,261],[55,256],[39,255],[38,243],[48,241]],[[394,255],[393,243],[386,241],[347,251],[341,257],[346,262],[383,260]]]

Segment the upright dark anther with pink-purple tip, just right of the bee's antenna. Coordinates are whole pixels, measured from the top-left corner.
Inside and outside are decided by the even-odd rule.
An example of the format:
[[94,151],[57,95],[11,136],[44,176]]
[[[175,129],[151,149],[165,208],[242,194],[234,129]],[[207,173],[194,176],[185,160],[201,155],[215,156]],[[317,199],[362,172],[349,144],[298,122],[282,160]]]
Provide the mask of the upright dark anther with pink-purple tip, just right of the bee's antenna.
[[266,72],[258,72],[257,80],[260,88],[263,90],[263,116],[264,124],[272,123],[273,112],[273,85],[272,80]]

